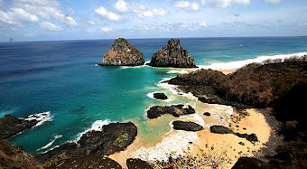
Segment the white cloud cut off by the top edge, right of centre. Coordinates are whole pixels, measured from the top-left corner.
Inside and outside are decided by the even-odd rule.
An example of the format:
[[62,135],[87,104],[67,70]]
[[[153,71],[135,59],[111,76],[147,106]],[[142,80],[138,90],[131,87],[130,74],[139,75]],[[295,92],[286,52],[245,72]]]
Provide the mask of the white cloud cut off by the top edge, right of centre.
[[219,8],[227,8],[233,4],[249,5],[250,0],[201,0],[201,5],[211,5]]

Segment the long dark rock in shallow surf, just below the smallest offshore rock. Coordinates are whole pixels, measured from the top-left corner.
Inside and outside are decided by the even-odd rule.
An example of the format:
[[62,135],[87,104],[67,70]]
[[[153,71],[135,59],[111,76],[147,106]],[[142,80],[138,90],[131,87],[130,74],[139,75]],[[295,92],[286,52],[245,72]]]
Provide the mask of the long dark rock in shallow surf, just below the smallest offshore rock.
[[188,108],[183,108],[183,105],[172,106],[154,106],[147,111],[148,118],[161,117],[164,114],[171,114],[174,117],[189,115],[195,113],[195,109],[188,105]]

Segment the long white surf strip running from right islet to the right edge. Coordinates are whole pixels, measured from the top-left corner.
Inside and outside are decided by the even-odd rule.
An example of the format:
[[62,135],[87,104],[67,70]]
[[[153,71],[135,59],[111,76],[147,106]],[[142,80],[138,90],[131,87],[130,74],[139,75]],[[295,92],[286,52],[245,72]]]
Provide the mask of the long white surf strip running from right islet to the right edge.
[[291,54],[278,54],[278,55],[262,55],[258,56],[255,59],[249,59],[245,61],[230,61],[230,62],[219,62],[219,63],[213,63],[210,65],[199,65],[200,69],[211,69],[211,70],[232,70],[232,69],[237,69],[241,68],[249,63],[252,62],[262,62],[268,59],[274,60],[274,59],[281,59],[284,61],[286,58],[290,58],[293,56],[298,56],[302,57],[303,55],[306,55],[307,52],[296,52],[296,53],[291,53]]

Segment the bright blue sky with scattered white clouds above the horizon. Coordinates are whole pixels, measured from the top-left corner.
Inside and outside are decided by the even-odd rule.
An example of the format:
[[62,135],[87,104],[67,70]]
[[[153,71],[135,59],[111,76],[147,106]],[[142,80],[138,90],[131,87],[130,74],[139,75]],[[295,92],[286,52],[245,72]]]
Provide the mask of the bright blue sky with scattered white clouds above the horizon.
[[307,35],[307,0],[0,0],[0,42]]

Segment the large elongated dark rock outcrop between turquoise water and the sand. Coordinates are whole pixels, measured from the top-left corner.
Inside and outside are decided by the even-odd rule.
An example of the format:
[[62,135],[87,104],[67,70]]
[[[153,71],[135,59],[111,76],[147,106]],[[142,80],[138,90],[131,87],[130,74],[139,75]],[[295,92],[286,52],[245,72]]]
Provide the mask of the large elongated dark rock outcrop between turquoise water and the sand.
[[101,131],[88,131],[79,139],[79,145],[66,143],[45,154],[36,155],[36,159],[44,163],[59,155],[68,158],[111,155],[132,144],[136,135],[137,128],[131,122],[110,123],[103,126]]

